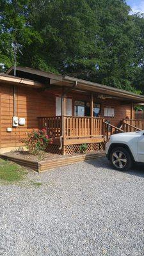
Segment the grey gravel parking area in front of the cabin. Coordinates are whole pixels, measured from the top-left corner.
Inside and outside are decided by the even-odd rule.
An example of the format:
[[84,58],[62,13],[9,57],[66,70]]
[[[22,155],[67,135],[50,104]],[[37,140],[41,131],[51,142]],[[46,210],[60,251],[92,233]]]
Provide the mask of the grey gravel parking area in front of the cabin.
[[143,178],[100,158],[1,185],[0,255],[144,255]]

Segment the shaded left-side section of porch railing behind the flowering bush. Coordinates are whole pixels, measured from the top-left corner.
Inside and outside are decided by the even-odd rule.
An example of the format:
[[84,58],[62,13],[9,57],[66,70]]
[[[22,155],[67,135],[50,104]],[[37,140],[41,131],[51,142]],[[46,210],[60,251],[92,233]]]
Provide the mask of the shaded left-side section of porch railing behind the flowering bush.
[[38,117],[38,128],[46,129],[51,138],[61,136],[61,116]]

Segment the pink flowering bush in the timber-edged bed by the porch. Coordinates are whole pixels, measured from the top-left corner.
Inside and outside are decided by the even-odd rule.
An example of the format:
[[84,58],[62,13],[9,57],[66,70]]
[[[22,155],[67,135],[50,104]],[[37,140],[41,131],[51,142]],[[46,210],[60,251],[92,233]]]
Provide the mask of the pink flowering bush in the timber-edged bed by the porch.
[[51,143],[51,139],[46,134],[46,130],[33,130],[32,132],[28,133],[28,138],[23,140],[25,143],[26,148],[28,149],[30,154],[34,156],[38,156],[38,160],[44,159],[45,150],[47,145]]

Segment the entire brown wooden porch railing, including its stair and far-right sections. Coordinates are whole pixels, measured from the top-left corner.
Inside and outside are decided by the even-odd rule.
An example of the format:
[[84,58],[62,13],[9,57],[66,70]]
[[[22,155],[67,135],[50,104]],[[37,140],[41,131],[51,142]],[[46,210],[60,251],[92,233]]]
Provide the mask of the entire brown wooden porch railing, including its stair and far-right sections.
[[[124,119],[122,127],[108,124],[105,118],[87,116],[45,116],[38,117],[39,129],[45,128],[51,138],[93,138],[111,134],[144,130],[144,120]],[[63,129],[63,132],[62,132]]]

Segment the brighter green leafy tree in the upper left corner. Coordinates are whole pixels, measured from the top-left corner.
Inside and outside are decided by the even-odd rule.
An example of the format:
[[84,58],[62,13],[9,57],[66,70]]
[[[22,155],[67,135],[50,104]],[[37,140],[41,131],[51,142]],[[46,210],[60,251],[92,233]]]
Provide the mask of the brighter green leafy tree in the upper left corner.
[[[24,45],[29,45],[37,32],[28,24],[29,0],[1,0],[0,9],[0,70],[13,65],[13,45],[16,42],[17,61]],[[21,51],[20,51],[21,50]]]

